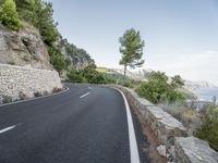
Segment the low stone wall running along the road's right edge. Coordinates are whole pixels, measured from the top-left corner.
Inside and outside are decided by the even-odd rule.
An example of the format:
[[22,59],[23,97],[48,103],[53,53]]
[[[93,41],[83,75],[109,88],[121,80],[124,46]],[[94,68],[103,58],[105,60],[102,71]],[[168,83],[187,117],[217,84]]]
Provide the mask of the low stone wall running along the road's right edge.
[[218,152],[213,150],[206,141],[195,137],[186,137],[186,128],[162,109],[140,98],[137,93],[121,86],[110,86],[120,89],[130,104],[134,106],[141,120],[146,121],[156,135],[161,149],[161,155],[170,153],[170,161],[174,163],[217,163]]

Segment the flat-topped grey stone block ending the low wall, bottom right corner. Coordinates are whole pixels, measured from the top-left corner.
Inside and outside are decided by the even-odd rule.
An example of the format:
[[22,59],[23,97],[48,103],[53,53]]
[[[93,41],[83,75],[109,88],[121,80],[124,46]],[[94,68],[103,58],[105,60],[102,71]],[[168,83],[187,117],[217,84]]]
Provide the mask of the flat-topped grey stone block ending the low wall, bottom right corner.
[[217,163],[218,152],[195,137],[175,138],[175,163]]

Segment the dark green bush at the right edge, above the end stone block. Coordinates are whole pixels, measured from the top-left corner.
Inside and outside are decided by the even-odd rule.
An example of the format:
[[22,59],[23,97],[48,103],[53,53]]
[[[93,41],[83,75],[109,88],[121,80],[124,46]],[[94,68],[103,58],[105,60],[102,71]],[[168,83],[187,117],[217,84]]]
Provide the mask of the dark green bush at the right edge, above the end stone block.
[[218,106],[213,105],[207,110],[195,136],[206,140],[211,148],[218,151]]

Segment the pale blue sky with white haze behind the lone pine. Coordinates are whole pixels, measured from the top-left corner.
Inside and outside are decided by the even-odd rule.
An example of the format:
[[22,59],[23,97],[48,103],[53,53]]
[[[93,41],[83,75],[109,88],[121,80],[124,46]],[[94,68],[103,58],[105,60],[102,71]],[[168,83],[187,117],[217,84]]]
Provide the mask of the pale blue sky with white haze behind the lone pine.
[[51,0],[58,28],[98,66],[119,65],[119,37],[145,40],[143,68],[218,85],[218,0]]

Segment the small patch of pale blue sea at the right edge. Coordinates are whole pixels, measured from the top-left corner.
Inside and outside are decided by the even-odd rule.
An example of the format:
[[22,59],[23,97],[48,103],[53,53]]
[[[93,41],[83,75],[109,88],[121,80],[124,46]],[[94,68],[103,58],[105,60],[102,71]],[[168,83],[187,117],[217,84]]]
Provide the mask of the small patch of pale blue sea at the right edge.
[[213,101],[214,96],[216,96],[218,101],[218,87],[193,90],[193,92],[205,101]]

